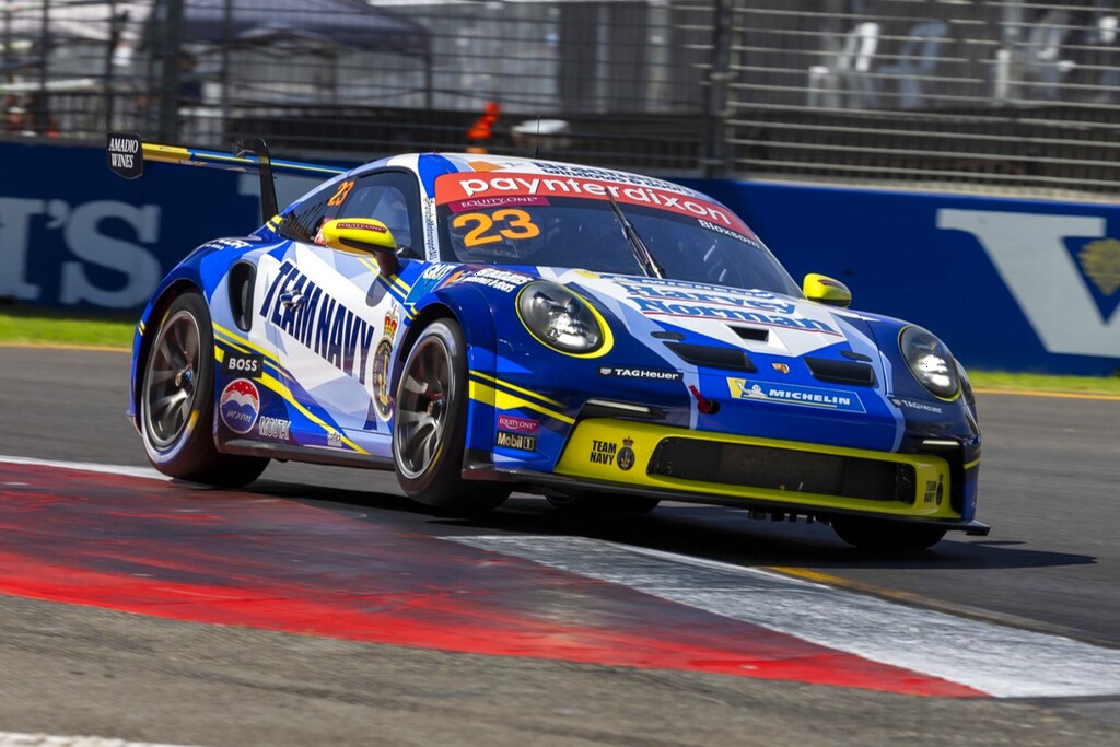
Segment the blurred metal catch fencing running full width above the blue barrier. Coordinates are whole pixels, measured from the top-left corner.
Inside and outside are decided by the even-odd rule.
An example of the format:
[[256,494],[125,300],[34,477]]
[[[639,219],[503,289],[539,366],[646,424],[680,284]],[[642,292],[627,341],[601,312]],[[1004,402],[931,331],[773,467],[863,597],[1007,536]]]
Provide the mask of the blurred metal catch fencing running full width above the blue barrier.
[[0,129],[1108,198],[1118,4],[0,0]]

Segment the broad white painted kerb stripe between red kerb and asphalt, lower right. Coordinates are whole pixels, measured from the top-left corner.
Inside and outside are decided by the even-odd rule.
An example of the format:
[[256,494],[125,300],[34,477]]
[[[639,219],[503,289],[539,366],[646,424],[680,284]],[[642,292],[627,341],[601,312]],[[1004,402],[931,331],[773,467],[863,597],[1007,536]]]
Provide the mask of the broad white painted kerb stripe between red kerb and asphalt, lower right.
[[456,536],[588,578],[956,682],[997,698],[1120,694],[1120,651],[763,570],[585,538]]

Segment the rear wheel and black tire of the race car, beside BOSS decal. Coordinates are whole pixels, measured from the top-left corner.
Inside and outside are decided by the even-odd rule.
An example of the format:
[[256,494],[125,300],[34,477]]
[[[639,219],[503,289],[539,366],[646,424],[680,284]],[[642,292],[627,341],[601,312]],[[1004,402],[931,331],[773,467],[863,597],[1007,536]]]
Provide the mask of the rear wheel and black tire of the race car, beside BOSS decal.
[[143,364],[140,433],[148,460],[170,477],[242,487],[269,460],[214,445],[214,329],[203,297],[186,292],[164,312]]

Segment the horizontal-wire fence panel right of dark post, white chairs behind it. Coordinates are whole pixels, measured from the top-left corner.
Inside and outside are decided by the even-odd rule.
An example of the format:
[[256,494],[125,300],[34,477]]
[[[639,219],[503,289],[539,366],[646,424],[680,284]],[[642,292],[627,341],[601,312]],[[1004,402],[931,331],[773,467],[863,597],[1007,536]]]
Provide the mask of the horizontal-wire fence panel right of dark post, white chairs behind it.
[[1118,3],[812,6],[735,8],[725,133],[736,171],[1116,192]]

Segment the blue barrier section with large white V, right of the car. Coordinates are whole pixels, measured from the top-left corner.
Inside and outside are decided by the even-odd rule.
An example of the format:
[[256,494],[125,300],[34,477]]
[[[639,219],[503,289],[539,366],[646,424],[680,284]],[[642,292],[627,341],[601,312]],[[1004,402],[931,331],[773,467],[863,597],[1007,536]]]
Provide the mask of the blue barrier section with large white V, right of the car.
[[1120,368],[1120,207],[829,187],[701,183],[796,278],[927,327],[967,365]]

